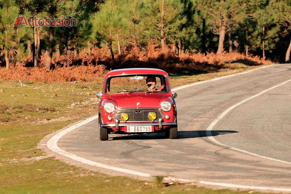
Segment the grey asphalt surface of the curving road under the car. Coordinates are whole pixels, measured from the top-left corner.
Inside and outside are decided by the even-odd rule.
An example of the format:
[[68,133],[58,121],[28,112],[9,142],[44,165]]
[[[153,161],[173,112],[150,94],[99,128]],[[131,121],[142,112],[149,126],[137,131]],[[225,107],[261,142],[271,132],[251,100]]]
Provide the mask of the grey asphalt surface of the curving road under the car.
[[163,133],[110,134],[108,141],[100,141],[95,119],[62,136],[57,145],[90,161],[151,175],[291,188],[291,81],[224,115],[211,136],[226,146],[207,136],[207,128],[221,113],[290,80],[290,70],[291,64],[271,65],[175,91],[178,139],[166,139]]

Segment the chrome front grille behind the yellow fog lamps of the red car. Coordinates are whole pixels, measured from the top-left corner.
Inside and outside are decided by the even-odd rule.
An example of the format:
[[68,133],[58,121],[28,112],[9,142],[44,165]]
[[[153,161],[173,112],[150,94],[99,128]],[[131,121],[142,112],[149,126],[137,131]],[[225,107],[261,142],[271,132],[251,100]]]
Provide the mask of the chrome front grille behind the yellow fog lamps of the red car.
[[159,118],[164,118],[164,115],[158,108],[123,108],[118,109],[116,113],[113,116],[113,119],[120,119],[120,116],[122,113],[128,114],[128,120],[127,122],[152,122],[148,118],[148,114],[154,112],[157,115],[157,118],[155,120],[158,120]]

